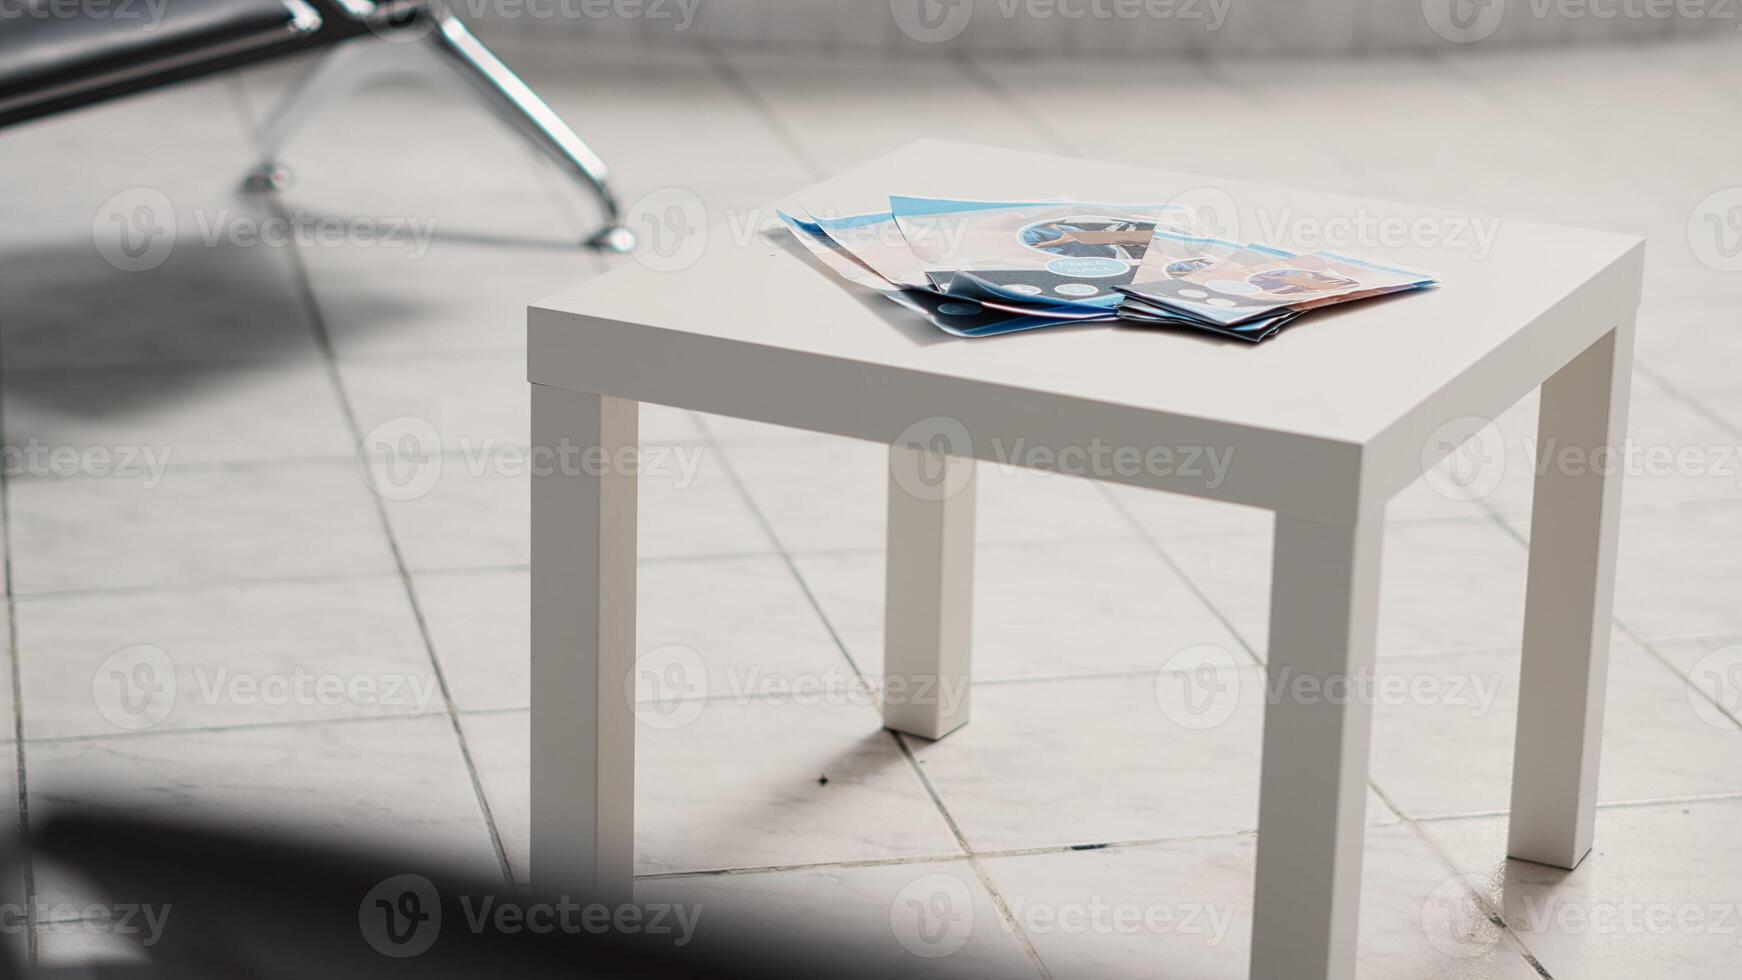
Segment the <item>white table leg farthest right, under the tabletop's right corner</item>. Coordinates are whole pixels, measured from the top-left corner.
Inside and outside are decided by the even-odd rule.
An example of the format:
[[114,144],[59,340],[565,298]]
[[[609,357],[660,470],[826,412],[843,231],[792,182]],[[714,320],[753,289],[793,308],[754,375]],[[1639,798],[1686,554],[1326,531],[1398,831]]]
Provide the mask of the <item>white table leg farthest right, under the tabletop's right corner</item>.
[[1507,853],[1563,869],[1596,823],[1631,373],[1629,319],[1542,386]]

